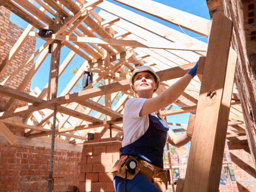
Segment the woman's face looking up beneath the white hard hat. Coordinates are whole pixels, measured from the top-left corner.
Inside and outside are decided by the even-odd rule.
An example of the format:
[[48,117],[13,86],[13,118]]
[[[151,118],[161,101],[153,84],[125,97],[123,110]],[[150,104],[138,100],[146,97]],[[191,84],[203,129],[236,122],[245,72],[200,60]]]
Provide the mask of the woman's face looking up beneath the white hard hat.
[[139,72],[134,77],[134,89],[138,94],[148,92],[152,94],[156,89],[154,76],[149,72]]

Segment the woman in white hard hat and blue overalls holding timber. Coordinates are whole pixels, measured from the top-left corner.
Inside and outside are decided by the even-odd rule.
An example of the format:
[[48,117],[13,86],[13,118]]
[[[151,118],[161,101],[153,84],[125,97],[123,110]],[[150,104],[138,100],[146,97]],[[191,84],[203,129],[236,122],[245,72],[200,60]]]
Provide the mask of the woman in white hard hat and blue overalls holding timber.
[[170,143],[181,147],[191,140],[186,133],[168,134],[169,126],[159,110],[172,104],[196,75],[197,64],[165,90],[152,98],[160,79],[148,66],[136,68],[130,77],[130,87],[138,98],[127,100],[123,114],[121,157],[110,173],[114,174],[116,192],[166,191],[167,179],[163,171],[163,149]]

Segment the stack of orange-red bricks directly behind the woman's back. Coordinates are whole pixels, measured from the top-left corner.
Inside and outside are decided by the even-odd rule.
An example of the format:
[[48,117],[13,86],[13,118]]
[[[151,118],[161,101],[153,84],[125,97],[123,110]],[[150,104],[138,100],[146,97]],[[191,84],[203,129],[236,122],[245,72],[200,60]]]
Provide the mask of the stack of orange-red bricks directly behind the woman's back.
[[119,159],[122,139],[117,137],[96,138],[97,136],[94,135],[94,140],[84,142],[79,191],[114,192],[112,175],[109,175],[108,172]]

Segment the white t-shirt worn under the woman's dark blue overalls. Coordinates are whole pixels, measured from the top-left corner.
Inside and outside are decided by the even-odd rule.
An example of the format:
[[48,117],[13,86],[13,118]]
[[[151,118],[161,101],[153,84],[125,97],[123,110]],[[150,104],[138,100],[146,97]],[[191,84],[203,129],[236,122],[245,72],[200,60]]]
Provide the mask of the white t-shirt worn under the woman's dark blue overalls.
[[[124,139],[122,141],[122,147],[133,143],[147,131],[149,127],[148,115],[139,116],[139,112],[141,111],[146,100],[147,99],[145,98],[132,98],[126,101],[123,114]],[[151,113],[151,115],[157,117],[155,112]],[[161,118],[166,123],[163,116],[161,116]],[[168,126],[167,123],[166,125]],[[167,140],[168,137],[166,142]]]

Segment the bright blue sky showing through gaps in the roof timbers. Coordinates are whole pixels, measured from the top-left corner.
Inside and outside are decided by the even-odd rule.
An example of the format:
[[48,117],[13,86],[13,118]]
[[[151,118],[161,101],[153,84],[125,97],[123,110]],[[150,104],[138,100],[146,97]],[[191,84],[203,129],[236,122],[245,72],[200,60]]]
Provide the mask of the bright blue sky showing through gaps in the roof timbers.
[[[112,2],[114,4],[117,4],[119,6],[122,6],[126,9],[128,9],[128,10],[134,11],[135,13],[141,14],[141,15],[143,15],[147,18],[150,18],[154,21],[160,22],[163,25],[166,25],[168,27],[171,27],[175,30],[178,30],[178,31],[182,32],[182,30],[180,29],[179,26],[173,25],[171,23],[165,22],[163,20],[160,20],[160,19],[155,18],[153,16],[150,16],[148,14],[142,13],[142,12],[140,12],[138,10],[135,10],[133,8],[130,8],[128,6],[124,6],[124,5],[122,5],[120,3],[117,3],[113,0],[108,0],[108,1]],[[174,7],[176,9],[183,10],[183,11],[186,11],[188,13],[203,17],[203,18],[206,18],[206,19],[210,19],[209,11],[208,11],[205,0],[193,0],[193,1],[191,1],[191,0],[183,0],[183,1],[155,0],[155,1],[159,2],[159,3],[162,3],[162,4],[165,4],[167,6],[171,6],[171,7]],[[38,6],[35,2],[34,2],[34,5]],[[96,11],[98,12],[99,9],[97,8]],[[52,17],[52,15],[50,15],[50,14],[49,14],[49,16]],[[14,15],[12,13],[10,15],[10,20],[12,22],[14,22],[15,24],[23,27],[23,28],[26,28],[26,26],[28,25],[27,22],[25,22],[24,20],[22,20],[21,18],[17,17],[16,15]],[[183,29],[183,30],[191,37],[202,37],[202,36],[200,36],[196,33],[190,32],[186,29]],[[208,39],[206,37],[199,38],[199,40],[204,41],[204,42],[208,41]],[[38,38],[37,42],[36,42],[36,49],[38,49],[41,45],[43,45],[44,42],[45,41]],[[67,56],[69,52],[70,52],[70,50],[65,46],[61,49],[60,64],[62,63],[65,56]],[[31,88],[32,89],[34,89],[37,86],[40,90],[42,90],[43,87],[45,86],[45,84],[48,82],[50,60],[51,60],[51,55],[49,54],[48,57],[46,58],[46,60],[43,62],[42,66],[39,68],[39,70],[36,72],[36,74],[32,78],[32,81],[31,81]],[[71,78],[73,76],[72,69],[74,69],[75,67],[78,67],[79,64],[83,63],[83,62],[84,62],[84,59],[82,57],[80,57],[78,55],[76,55],[74,57],[74,59],[68,65],[67,69],[63,72],[63,74],[59,78],[58,94],[60,94],[60,92],[66,87],[68,82],[71,80]],[[73,89],[71,92],[78,92],[78,91],[79,90]],[[177,107],[173,107],[172,109],[175,109],[175,108],[177,108]],[[167,122],[187,124],[188,116],[189,116],[189,114],[180,114],[180,115],[169,116],[169,117],[167,117]],[[175,127],[175,126],[171,126],[171,127],[172,128],[180,128],[180,127]]]

